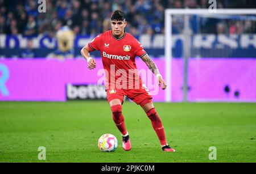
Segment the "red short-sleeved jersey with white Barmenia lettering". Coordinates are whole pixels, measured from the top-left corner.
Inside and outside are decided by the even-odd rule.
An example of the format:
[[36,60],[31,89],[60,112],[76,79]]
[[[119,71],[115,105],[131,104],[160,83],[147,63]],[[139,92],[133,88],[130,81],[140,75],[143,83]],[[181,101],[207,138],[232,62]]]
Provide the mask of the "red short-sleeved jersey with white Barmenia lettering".
[[89,51],[100,50],[106,72],[106,88],[141,88],[135,57],[143,57],[146,51],[135,37],[125,32],[117,39],[112,30],[96,36],[89,44]]

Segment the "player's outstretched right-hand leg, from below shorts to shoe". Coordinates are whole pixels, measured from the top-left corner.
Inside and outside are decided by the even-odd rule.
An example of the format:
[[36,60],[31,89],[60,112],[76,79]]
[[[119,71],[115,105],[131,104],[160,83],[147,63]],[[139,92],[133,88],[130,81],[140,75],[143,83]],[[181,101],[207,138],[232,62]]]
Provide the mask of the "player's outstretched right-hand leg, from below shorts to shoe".
[[[147,101],[145,101],[147,102]],[[156,112],[156,109],[152,103],[152,101],[149,101],[145,104],[145,102],[141,103],[141,107],[143,108],[144,112],[146,112],[148,118],[151,120],[152,127],[154,128],[156,135],[158,136],[158,139],[160,141],[160,145],[162,146],[163,151],[170,151],[175,152],[173,148],[168,146],[166,141],[166,134],[164,132],[164,127],[162,120],[160,119],[158,113]]]

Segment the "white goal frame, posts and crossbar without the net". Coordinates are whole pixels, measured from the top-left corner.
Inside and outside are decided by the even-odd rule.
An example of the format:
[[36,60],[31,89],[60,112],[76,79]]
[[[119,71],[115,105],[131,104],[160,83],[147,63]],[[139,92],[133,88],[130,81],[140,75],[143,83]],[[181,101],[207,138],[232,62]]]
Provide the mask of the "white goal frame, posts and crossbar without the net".
[[183,101],[187,101],[187,71],[188,71],[188,58],[189,58],[189,44],[190,44],[190,34],[189,34],[189,19],[186,16],[189,15],[203,15],[206,18],[214,18],[216,15],[255,15],[256,9],[166,9],[165,19],[164,19],[164,56],[166,59],[165,63],[165,74],[167,89],[165,94],[166,102],[172,101],[172,15],[183,15],[184,18],[184,38],[187,41],[183,43],[183,58],[184,58],[184,84],[183,84]]

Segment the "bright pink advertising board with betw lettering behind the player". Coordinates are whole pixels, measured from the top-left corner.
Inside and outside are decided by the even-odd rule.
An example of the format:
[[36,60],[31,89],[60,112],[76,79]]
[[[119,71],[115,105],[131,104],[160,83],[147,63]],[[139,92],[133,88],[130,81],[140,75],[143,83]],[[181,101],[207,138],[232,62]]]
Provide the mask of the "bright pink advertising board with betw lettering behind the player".
[[[155,58],[165,79],[165,61]],[[66,101],[106,99],[100,58],[94,70],[85,60],[0,60],[1,101]],[[183,60],[172,60],[171,100],[183,100]],[[146,64],[137,59],[139,74],[154,101],[165,101]],[[191,58],[188,63],[189,101],[256,101],[256,59]]]

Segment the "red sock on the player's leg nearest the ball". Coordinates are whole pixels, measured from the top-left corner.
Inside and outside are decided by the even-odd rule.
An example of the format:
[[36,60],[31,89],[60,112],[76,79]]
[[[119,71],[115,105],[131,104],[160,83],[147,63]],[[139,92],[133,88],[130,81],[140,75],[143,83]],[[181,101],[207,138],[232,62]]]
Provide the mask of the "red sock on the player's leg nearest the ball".
[[122,105],[117,104],[111,107],[111,111],[113,113],[113,120],[115,125],[117,126],[118,130],[121,132],[122,135],[127,133],[125,128],[125,118],[123,118],[122,114]]

